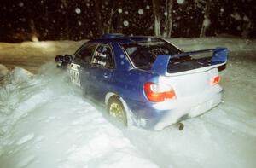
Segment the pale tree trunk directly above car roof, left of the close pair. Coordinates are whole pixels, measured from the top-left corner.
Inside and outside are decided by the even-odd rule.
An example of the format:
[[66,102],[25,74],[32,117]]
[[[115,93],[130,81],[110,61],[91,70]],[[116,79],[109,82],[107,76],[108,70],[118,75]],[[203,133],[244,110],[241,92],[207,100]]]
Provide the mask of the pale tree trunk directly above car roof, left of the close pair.
[[160,3],[159,0],[152,0],[153,3],[153,17],[154,17],[154,36],[160,36]]

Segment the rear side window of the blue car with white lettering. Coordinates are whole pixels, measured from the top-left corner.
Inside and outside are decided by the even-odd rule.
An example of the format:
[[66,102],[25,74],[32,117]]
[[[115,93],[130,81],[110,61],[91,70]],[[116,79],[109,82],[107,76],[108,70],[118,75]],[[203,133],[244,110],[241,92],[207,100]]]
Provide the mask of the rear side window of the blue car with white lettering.
[[91,61],[92,65],[97,67],[113,67],[113,55],[108,45],[98,45]]

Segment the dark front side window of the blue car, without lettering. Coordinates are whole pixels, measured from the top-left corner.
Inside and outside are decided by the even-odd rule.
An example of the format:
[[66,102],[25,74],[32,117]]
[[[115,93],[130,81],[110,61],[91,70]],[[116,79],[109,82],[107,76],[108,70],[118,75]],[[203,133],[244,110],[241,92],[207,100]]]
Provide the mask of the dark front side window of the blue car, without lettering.
[[96,49],[95,43],[88,43],[84,46],[83,49],[79,51],[79,53],[75,56],[76,60],[84,61],[85,63],[90,63],[91,57]]

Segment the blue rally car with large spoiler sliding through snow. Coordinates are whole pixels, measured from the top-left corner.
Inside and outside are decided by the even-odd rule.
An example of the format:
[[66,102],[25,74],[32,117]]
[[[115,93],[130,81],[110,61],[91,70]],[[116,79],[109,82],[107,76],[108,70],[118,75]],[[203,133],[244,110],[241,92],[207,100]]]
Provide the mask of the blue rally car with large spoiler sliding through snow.
[[218,105],[218,67],[227,54],[226,48],[183,52],[162,38],[107,34],[55,61],[114,118],[161,130]]

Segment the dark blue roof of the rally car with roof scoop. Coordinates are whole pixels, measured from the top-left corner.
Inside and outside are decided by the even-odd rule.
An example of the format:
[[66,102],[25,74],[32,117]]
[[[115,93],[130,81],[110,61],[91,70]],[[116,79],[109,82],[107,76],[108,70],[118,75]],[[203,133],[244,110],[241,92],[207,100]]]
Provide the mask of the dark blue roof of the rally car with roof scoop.
[[138,42],[147,42],[147,41],[159,41],[160,38],[152,36],[107,36],[104,35],[102,38],[97,38],[90,40],[88,43],[138,43]]

